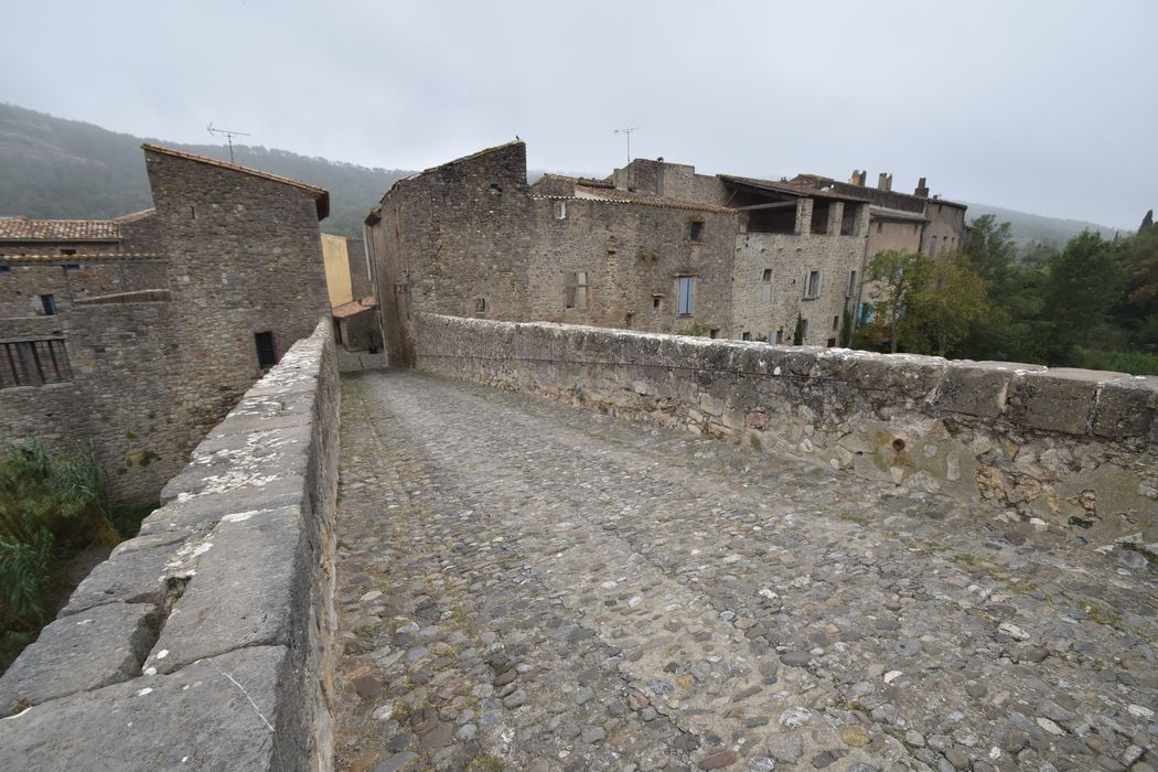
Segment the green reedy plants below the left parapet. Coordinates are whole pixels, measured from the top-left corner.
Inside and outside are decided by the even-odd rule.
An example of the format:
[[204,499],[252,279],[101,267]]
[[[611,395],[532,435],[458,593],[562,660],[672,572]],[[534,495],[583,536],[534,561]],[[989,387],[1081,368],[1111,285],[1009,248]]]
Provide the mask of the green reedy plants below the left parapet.
[[0,672],[72,590],[69,563],[135,532],[135,515],[115,513],[123,530],[113,525],[91,447],[72,456],[35,443],[0,450]]

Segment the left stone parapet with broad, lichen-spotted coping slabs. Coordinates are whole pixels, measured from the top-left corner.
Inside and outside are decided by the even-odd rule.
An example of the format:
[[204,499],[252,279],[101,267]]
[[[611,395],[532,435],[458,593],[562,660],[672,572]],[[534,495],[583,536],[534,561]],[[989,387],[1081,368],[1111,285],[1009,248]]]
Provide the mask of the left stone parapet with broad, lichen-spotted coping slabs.
[[330,767],[339,399],[323,319],[0,678],[0,769]]

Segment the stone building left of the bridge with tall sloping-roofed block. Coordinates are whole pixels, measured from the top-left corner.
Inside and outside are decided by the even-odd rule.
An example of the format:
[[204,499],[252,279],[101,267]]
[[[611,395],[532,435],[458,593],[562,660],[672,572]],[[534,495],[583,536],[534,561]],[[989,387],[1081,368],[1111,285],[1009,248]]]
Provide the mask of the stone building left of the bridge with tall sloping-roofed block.
[[144,150],[146,213],[0,221],[0,442],[91,440],[125,502],[155,500],[205,432],[329,313],[324,190]]

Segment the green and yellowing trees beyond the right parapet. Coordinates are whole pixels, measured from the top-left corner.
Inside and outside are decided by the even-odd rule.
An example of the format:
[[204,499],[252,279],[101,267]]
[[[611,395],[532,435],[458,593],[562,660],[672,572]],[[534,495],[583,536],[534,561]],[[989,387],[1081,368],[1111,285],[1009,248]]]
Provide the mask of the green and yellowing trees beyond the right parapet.
[[965,250],[873,258],[875,316],[857,343],[951,358],[1158,375],[1158,227],[1083,231],[1021,251],[1009,223],[974,220]]

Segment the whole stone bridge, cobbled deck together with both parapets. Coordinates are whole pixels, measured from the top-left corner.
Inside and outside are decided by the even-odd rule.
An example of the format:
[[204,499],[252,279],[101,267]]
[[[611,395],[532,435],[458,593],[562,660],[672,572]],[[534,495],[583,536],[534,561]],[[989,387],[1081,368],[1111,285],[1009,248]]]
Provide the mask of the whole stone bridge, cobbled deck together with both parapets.
[[0,769],[1153,769],[1153,380],[416,329],[247,394]]

